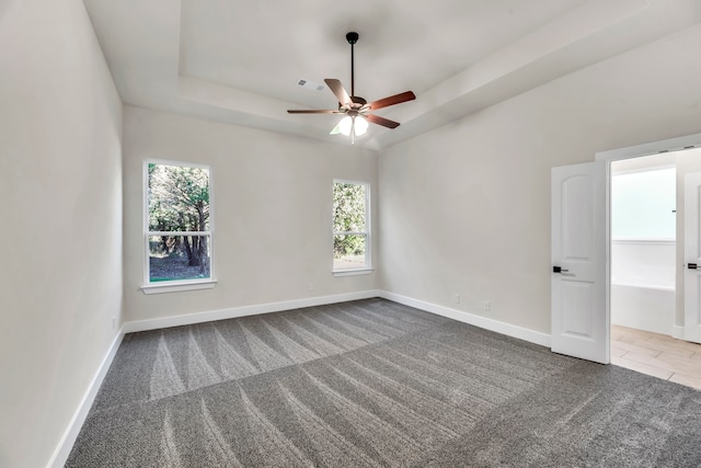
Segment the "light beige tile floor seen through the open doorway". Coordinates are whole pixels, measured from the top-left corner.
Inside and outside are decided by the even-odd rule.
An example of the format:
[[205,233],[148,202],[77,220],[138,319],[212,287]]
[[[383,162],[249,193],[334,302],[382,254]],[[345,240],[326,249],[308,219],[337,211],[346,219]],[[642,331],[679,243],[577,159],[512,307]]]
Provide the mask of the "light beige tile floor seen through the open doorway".
[[611,364],[701,389],[701,344],[612,324]]

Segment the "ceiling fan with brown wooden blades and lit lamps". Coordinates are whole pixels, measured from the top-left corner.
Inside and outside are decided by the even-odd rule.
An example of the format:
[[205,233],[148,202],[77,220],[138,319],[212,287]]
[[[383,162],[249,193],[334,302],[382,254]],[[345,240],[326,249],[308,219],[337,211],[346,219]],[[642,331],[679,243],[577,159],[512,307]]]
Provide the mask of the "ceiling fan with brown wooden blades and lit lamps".
[[365,99],[355,95],[355,64],[354,64],[354,45],[358,42],[358,33],[349,32],[346,34],[346,41],[350,44],[350,95],[341,84],[341,81],[326,78],[324,82],[338,100],[338,110],[288,110],[289,114],[346,114],[346,116],[331,130],[331,135],[343,134],[350,135],[352,141],[355,137],[367,132],[368,122],[381,125],[387,128],[399,127],[399,122],[370,114],[378,109],[388,107],[402,102],[412,101],[416,95],[412,91],[405,91],[389,98],[380,99],[368,103]]

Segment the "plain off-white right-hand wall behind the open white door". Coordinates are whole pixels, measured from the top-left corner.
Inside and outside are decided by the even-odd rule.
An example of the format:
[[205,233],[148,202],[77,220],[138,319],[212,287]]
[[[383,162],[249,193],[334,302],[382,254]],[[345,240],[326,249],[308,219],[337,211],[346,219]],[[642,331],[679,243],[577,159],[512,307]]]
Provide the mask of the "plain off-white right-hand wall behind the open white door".
[[697,25],[383,151],[380,287],[549,333],[550,169],[698,133],[700,47]]

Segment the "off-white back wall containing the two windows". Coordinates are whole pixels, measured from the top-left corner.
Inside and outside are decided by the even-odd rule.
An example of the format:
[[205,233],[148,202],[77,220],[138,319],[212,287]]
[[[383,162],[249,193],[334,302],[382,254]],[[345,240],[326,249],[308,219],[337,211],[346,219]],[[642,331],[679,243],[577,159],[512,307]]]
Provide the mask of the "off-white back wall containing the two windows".
[[[214,289],[145,295],[142,163],[210,164]],[[334,277],[334,179],[377,189],[374,151],[125,106],[125,306],[129,321],[376,288],[376,273]],[[374,197],[372,214],[377,214]],[[377,216],[372,224],[377,226]],[[377,230],[376,230],[377,231]],[[377,243],[375,254],[379,251]],[[313,283],[313,290],[310,290]]]

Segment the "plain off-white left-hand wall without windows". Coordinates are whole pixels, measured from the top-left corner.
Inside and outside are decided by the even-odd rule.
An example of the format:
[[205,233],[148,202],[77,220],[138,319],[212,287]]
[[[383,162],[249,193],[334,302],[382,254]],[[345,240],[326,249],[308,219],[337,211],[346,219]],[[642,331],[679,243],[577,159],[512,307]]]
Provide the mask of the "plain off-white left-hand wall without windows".
[[2,2],[0,77],[0,466],[42,467],[117,335],[122,102],[80,0]]

